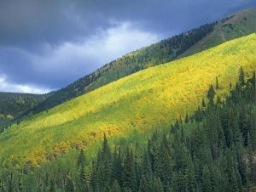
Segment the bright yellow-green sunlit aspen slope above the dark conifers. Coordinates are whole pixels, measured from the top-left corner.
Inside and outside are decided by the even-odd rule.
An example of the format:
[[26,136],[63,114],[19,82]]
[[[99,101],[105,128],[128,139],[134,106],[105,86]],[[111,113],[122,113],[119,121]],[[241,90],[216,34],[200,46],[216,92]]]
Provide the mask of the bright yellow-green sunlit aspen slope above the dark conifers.
[[192,112],[218,82],[219,95],[228,93],[242,66],[256,69],[256,34],[166,65],[158,65],[120,79],[32,116],[0,135],[0,160],[47,161],[73,147],[90,147],[103,133],[127,136],[165,127],[185,111]]

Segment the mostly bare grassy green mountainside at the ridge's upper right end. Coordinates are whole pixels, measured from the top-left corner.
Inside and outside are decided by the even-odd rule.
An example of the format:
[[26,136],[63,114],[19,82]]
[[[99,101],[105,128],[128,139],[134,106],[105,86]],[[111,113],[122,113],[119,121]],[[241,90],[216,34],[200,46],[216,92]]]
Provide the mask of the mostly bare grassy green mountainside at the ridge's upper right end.
[[207,48],[212,48],[226,41],[230,41],[237,37],[247,36],[256,32],[256,8],[248,8],[236,14],[231,14],[224,20],[219,20],[214,26],[214,30],[204,37],[200,42],[179,55],[183,58],[191,54],[199,53]]

